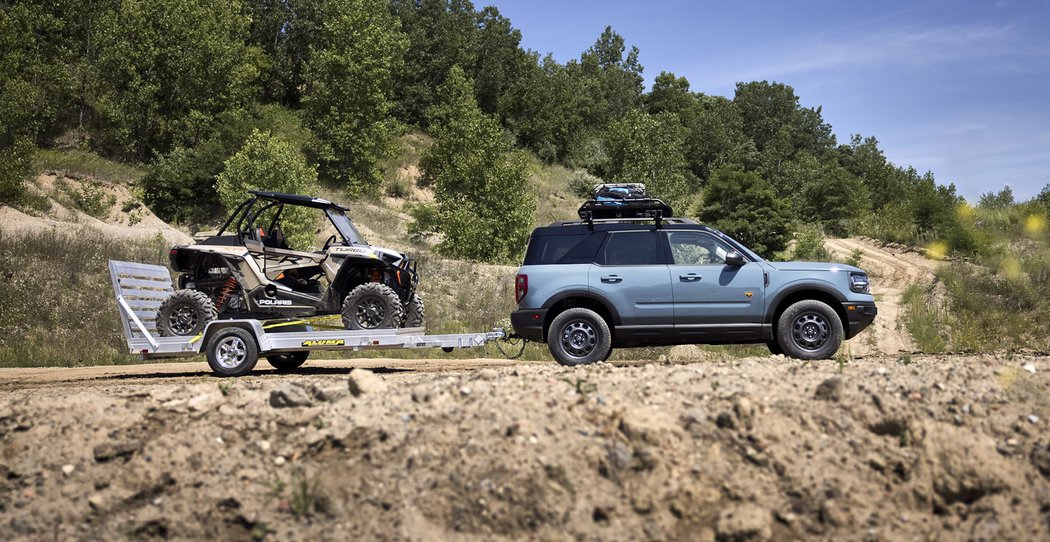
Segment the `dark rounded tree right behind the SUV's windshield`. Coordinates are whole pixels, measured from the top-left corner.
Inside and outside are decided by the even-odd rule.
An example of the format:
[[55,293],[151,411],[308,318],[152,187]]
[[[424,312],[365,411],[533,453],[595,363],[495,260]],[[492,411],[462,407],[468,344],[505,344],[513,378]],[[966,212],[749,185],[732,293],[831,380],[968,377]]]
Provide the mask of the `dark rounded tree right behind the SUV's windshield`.
[[759,254],[783,251],[792,237],[791,210],[768,181],[738,166],[712,173],[697,217]]

